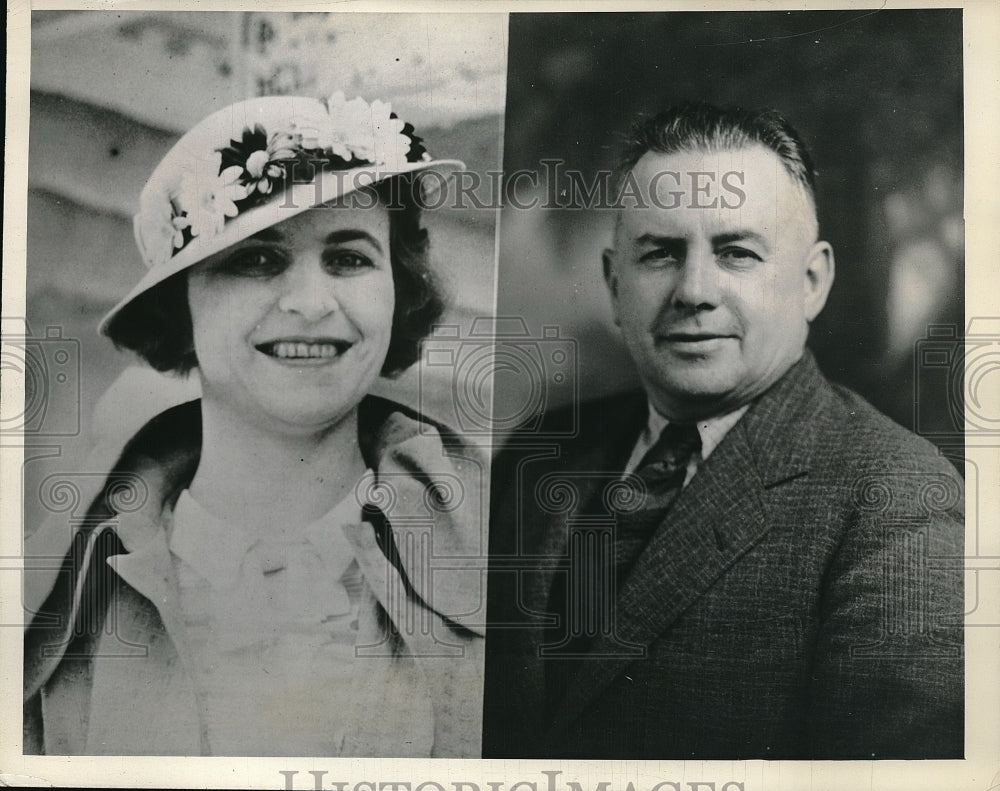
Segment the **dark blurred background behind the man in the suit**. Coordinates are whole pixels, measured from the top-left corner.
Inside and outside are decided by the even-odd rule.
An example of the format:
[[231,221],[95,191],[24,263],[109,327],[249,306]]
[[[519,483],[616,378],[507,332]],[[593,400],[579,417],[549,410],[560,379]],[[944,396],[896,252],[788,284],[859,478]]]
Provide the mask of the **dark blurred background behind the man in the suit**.
[[[512,14],[509,64],[508,174],[541,178],[547,158],[610,168],[633,117],[687,99],[780,110],[812,150],[836,252],[810,337],[821,368],[899,423],[961,445],[961,404],[940,371],[915,374],[928,328],[947,352],[964,320],[960,10]],[[530,192],[522,177],[522,200]],[[637,384],[600,275],[612,219],[504,209],[499,314],[576,341],[576,375],[550,379],[549,406]],[[537,399],[517,376],[495,393],[500,416]]]

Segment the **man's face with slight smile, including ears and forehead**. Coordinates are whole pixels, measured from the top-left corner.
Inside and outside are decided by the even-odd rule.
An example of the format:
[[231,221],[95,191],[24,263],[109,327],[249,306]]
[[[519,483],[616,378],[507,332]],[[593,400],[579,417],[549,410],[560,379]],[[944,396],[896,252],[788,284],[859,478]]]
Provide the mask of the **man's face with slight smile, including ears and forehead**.
[[604,265],[625,344],[654,406],[723,414],[799,359],[833,282],[833,252],[780,159],[762,146],[647,152]]

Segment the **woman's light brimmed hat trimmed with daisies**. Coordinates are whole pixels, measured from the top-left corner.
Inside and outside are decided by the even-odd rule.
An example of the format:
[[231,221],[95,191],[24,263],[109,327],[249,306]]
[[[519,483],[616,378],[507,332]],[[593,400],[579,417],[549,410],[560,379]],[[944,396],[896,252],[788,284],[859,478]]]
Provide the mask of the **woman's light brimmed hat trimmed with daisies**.
[[[149,271],[100,331],[140,294],[264,228],[392,176],[463,167],[431,159],[385,102],[347,101],[339,91],[325,101],[264,96],[219,110],[146,182],[133,227]],[[441,182],[413,187],[426,197]]]

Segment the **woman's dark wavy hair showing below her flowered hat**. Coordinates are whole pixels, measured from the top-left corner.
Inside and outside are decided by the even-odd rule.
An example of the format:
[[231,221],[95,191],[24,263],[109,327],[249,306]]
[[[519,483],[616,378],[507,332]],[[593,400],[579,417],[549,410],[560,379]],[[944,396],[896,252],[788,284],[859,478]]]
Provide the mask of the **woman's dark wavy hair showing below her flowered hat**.
[[[441,318],[444,298],[428,266],[429,240],[420,224],[419,174],[397,176],[368,189],[389,211],[396,308],[382,375],[396,376],[420,357],[420,341]],[[196,367],[187,297],[190,271],[178,272],[122,308],[106,330],[115,346],[135,352],[157,371],[184,374]]]

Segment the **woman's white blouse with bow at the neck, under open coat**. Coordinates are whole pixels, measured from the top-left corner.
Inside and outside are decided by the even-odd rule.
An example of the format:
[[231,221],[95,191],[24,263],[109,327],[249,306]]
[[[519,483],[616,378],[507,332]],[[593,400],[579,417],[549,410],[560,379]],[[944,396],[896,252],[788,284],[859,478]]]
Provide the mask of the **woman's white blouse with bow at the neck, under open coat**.
[[213,755],[340,754],[363,670],[363,579],[342,529],[361,522],[354,492],[262,536],[181,493],[170,550]]

